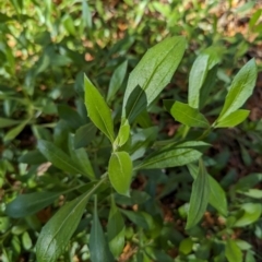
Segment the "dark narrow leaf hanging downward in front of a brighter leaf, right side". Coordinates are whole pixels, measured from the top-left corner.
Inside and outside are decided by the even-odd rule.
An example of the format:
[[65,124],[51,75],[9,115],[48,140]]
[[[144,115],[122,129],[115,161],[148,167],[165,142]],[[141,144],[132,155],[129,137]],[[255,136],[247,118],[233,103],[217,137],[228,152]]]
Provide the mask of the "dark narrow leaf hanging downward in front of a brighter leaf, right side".
[[195,226],[202,218],[210,199],[210,182],[205,166],[200,160],[199,175],[195,178],[190,196],[190,206],[186,229]]

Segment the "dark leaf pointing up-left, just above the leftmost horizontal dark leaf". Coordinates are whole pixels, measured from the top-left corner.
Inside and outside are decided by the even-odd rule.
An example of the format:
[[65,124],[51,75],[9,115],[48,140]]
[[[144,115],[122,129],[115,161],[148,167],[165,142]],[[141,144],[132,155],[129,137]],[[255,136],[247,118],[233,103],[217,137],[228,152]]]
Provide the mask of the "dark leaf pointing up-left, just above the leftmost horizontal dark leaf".
[[61,170],[71,174],[84,172],[76,163],[51,142],[38,140],[38,150],[53,166]]

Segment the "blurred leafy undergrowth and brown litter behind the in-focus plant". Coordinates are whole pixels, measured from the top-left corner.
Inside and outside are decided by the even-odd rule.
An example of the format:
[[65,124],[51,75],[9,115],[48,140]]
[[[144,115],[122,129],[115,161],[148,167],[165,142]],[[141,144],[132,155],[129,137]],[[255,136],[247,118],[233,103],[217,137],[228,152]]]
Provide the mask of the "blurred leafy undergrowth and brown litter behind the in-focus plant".
[[[221,110],[231,76],[242,64],[254,57],[259,68],[254,94],[247,103],[249,119],[238,128],[217,131],[209,138],[213,147],[205,155],[205,164],[225,189],[230,214],[226,219],[210,209],[200,227],[184,233],[184,209],[192,182],[188,170],[142,174],[132,184],[133,201],[119,198],[117,202],[128,210],[140,209],[126,212],[130,223],[119,261],[226,261],[225,253],[230,258],[230,250],[238,258],[238,250],[243,251],[246,262],[262,260],[262,3],[10,0],[0,2],[2,261],[35,261],[39,228],[64,200],[60,196],[53,205],[23,219],[8,217],[4,203],[23,192],[64,190],[84,182],[50,167],[36,150],[38,139],[55,141],[64,152],[70,151],[64,143],[70,133],[75,134],[70,142],[75,147],[86,146],[93,140],[87,152],[98,172],[108,159],[106,142],[88,126],[83,73],[105,96],[110,85],[120,83],[120,91],[107,98],[119,124],[128,73],[150,47],[174,35],[187,38],[186,55],[162,99],[151,106],[150,115],[138,119],[143,129],[152,131],[153,126],[158,126],[158,132],[150,132],[153,142],[156,136],[163,140],[182,135],[183,130],[163,109],[162,100],[186,100],[189,71],[202,50],[212,46],[219,60],[213,80],[215,87],[204,109],[211,119]],[[91,132],[88,138],[84,135],[86,130]],[[147,135],[144,132],[142,136],[146,140]],[[152,195],[156,198],[147,201]],[[106,223],[105,205],[102,201],[99,217]],[[160,218],[153,219],[158,213]],[[84,222],[90,221],[86,215]],[[236,221],[238,226],[234,227]],[[88,261],[88,228],[81,225],[60,261]],[[225,241],[230,247],[226,251]]]

